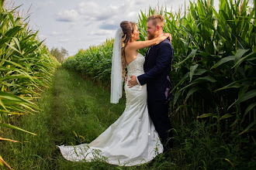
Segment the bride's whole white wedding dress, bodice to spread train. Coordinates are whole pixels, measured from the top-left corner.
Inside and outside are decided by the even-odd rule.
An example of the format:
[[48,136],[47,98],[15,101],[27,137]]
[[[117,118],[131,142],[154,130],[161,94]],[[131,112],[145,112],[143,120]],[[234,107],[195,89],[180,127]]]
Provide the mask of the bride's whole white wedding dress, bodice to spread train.
[[[138,53],[128,66],[128,77],[144,73],[143,55]],[[125,84],[126,109],[90,144],[58,146],[69,161],[104,160],[112,165],[132,166],[150,162],[163,152],[163,145],[147,111],[147,86]]]

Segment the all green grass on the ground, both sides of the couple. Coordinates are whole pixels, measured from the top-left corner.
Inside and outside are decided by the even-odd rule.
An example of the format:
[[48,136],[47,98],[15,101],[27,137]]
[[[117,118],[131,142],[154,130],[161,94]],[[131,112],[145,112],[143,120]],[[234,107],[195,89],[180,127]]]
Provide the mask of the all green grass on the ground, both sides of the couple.
[[22,142],[1,141],[5,162],[14,169],[234,169],[232,165],[250,169],[255,166],[254,145],[221,134],[220,124],[205,121],[172,122],[176,131],[175,148],[149,164],[118,167],[65,160],[56,145],[91,142],[123,113],[125,99],[110,104],[109,98],[109,91],[95,86],[92,80],[58,68],[52,88],[45,90],[38,100],[40,113],[12,120],[16,126],[37,135],[5,129],[7,138]]

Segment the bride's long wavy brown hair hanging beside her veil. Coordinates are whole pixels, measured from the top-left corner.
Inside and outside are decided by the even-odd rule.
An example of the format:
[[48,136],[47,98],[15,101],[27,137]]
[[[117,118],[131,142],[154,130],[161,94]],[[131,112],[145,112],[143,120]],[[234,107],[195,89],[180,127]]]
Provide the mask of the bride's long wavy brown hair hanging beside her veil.
[[136,26],[136,23],[134,22],[128,22],[128,21],[123,21],[120,23],[120,27],[123,29],[123,34],[122,34],[122,76],[124,77],[126,75],[126,59],[125,59],[125,51],[124,49],[126,48],[128,42],[132,41],[132,33],[133,30]]

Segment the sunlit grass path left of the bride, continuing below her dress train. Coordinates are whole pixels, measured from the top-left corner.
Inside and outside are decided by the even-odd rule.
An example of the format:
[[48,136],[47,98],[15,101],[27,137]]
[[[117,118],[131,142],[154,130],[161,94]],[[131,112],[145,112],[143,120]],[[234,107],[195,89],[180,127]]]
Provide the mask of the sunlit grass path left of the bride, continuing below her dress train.
[[[99,136],[123,113],[125,100],[109,103],[110,94],[95,83],[60,67],[53,86],[42,93],[35,115],[17,117],[14,122],[36,136],[20,131],[5,131],[20,143],[5,142],[0,151],[14,169],[160,169],[168,165],[160,156],[139,167],[117,167],[102,162],[68,162],[56,145],[88,143]],[[160,162],[160,163],[159,163]]]

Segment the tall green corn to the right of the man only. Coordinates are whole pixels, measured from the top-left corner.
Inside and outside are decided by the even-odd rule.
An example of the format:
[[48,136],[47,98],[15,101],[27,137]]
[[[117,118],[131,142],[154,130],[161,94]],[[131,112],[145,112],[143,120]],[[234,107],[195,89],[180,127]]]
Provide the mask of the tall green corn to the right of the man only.
[[198,1],[185,16],[165,13],[175,49],[172,111],[178,117],[190,112],[228,119],[240,134],[254,127],[255,8],[247,3],[221,0],[216,12],[213,1]]

